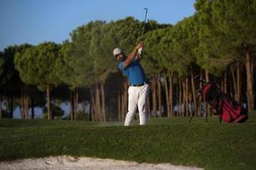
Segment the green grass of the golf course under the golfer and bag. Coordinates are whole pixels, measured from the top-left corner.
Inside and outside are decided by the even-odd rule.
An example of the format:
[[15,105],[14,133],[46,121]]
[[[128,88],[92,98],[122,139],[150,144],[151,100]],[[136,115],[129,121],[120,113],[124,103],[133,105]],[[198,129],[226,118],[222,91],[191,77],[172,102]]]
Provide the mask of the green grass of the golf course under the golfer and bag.
[[[134,125],[138,122],[135,121]],[[246,123],[204,118],[149,118],[146,126],[120,122],[0,120],[0,161],[44,156],[92,156],[170,162],[205,169],[255,169],[256,112]]]

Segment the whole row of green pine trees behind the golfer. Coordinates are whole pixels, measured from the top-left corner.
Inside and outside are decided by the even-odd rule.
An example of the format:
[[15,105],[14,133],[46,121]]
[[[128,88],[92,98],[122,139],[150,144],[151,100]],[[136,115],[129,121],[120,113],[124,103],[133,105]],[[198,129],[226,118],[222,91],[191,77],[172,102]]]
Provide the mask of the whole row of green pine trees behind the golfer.
[[[197,0],[195,14],[161,25],[148,20],[143,37],[143,67],[151,82],[150,116],[211,116],[201,107],[194,77],[216,81],[248,110],[255,109],[256,0]],[[22,118],[35,106],[47,108],[49,120],[61,114],[56,102],[70,101],[70,119],[78,105],[90,104],[90,121],[123,121],[127,112],[127,79],[118,71],[112,51],[129,54],[142,40],[143,22],[101,20],[74,29],[71,41],[21,44],[0,52],[1,117]],[[84,108],[84,106],[83,106]],[[201,111],[204,110],[204,111]],[[85,111],[85,109],[84,109]],[[203,114],[202,114],[203,113]]]

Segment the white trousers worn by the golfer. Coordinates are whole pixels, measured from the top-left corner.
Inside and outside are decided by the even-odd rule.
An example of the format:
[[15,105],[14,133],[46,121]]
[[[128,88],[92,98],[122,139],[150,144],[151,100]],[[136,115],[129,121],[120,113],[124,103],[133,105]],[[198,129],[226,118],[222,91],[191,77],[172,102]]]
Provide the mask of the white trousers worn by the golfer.
[[139,111],[140,125],[146,124],[147,121],[147,97],[149,93],[149,85],[145,84],[140,87],[128,88],[128,113],[125,117],[125,126],[129,126],[137,109]]

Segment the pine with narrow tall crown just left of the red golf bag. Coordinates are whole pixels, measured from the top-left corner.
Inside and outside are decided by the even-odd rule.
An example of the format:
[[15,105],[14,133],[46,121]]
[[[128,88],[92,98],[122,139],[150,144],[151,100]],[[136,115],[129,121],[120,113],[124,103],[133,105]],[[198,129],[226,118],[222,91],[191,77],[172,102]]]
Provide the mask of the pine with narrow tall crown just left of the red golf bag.
[[[169,35],[171,37],[169,51],[173,59],[172,69],[176,71],[177,76],[180,77],[180,94],[183,96],[184,114],[186,114],[186,116],[192,112],[191,107],[189,107],[189,104],[192,103],[192,96],[194,108],[196,107],[193,72],[195,69],[193,67],[195,67],[195,51],[199,41],[195,25],[196,21],[194,16],[185,18],[172,27]],[[192,94],[189,92],[192,92]]]

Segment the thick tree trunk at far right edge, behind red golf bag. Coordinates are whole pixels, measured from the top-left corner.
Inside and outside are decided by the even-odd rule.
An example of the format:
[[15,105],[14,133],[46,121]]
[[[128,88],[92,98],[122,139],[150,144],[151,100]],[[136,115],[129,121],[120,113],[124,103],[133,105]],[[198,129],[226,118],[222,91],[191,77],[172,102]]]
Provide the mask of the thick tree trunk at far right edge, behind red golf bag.
[[246,50],[246,70],[247,70],[247,105],[248,111],[254,109],[254,98],[253,98],[253,68],[251,64],[250,49]]

